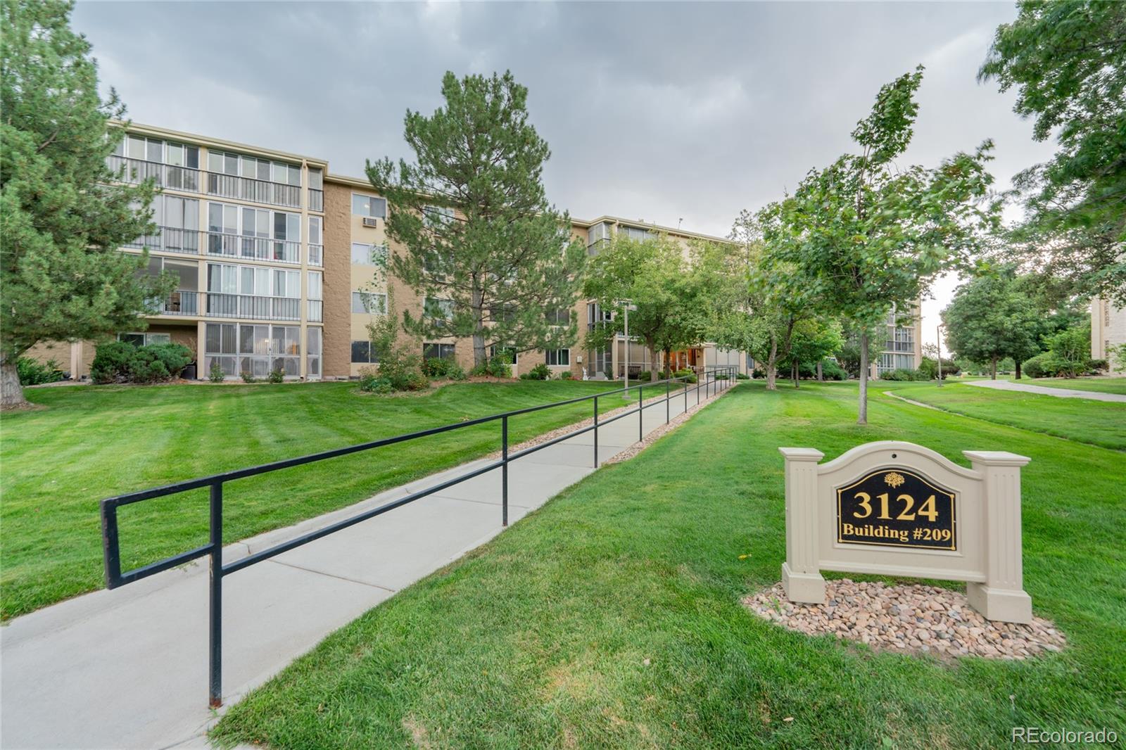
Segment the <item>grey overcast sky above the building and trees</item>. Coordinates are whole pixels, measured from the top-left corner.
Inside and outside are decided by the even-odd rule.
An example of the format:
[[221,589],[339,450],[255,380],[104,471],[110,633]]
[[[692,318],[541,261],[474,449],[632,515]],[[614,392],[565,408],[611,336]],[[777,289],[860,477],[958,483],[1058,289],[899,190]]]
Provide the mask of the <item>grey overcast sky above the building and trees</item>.
[[[79,2],[101,80],[137,123],[329,160],[410,157],[408,108],[440,106],[445,71],[511,70],[552,148],[549,199],[724,235],[742,208],[851,149],[879,86],[927,66],[904,163],[982,140],[1006,187],[1051,143],[975,78],[1012,2]],[[923,340],[953,279],[923,305]]]

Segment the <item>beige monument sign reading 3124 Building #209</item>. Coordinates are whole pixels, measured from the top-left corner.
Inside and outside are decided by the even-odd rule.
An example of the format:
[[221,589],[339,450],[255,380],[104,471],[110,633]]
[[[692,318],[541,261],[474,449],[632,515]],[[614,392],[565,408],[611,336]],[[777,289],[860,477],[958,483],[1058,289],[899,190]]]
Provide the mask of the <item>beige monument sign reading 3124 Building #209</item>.
[[786,562],[792,601],[821,604],[822,570],[965,581],[989,619],[1028,623],[1020,544],[1025,456],[963,452],[964,468],[911,443],[857,446],[826,464],[813,448],[786,458]]

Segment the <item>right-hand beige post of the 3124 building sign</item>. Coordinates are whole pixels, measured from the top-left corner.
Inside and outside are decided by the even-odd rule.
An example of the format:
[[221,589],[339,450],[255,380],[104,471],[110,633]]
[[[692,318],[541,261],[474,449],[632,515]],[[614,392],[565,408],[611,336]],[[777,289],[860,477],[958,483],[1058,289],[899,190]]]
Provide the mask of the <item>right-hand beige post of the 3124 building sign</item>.
[[988,619],[1033,622],[1024,588],[1020,544],[1020,467],[1030,459],[1003,450],[963,450],[984,480],[985,582],[966,583],[966,598]]

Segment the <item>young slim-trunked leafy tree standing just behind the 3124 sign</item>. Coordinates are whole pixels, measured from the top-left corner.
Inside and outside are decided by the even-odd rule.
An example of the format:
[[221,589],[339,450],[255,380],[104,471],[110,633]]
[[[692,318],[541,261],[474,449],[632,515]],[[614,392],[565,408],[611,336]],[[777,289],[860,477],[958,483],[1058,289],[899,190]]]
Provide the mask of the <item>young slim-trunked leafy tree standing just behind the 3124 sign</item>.
[[992,143],[937,168],[894,160],[911,142],[922,66],[881,88],[852,140],[860,153],[812,170],[766,225],[767,251],[799,285],[860,334],[858,423],[868,420],[868,334],[892,310],[910,309],[931,279],[969,266],[980,231],[998,206],[982,205],[992,182]]

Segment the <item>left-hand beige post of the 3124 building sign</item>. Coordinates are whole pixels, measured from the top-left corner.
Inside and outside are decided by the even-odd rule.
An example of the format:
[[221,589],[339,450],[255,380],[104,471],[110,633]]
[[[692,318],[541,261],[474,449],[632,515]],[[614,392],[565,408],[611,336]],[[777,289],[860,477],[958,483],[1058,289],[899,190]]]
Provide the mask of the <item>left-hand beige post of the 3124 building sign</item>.
[[786,562],[781,583],[790,601],[822,604],[825,579],[817,569],[817,462],[814,448],[778,448],[786,457]]

